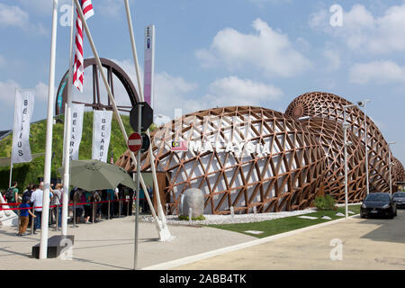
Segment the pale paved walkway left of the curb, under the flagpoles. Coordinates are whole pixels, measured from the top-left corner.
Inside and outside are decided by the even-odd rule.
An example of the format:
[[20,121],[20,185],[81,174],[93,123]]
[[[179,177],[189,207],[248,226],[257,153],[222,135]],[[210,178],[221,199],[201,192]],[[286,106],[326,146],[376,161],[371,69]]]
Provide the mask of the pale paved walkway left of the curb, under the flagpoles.
[[[36,235],[17,237],[16,229],[0,227],[0,270],[4,269],[132,269],[135,218],[103,220],[80,224],[68,234],[75,235],[73,260],[31,258],[31,247],[40,243]],[[182,257],[193,256],[220,247],[256,239],[236,232],[169,225],[175,239],[159,242],[155,224],[139,223],[138,267],[153,266]],[[60,232],[49,229],[49,237]]]

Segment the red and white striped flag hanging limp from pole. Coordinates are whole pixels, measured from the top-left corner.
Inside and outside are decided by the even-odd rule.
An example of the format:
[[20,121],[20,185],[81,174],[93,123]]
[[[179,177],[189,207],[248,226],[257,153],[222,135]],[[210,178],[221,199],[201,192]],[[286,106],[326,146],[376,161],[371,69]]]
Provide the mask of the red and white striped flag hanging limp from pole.
[[[92,0],[81,0],[85,21],[94,15]],[[83,79],[85,76],[84,58],[83,58],[83,26],[82,20],[76,11],[76,53],[73,65],[73,85],[83,92]]]

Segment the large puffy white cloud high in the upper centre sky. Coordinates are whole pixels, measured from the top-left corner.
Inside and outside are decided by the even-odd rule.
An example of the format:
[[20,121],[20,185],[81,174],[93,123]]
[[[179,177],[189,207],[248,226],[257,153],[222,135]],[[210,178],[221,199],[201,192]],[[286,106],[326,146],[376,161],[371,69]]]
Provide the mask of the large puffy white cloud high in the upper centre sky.
[[202,67],[225,65],[230,70],[255,67],[266,76],[294,76],[311,62],[293,49],[288,36],[257,19],[256,34],[244,34],[231,28],[217,33],[209,49],[196,51]]

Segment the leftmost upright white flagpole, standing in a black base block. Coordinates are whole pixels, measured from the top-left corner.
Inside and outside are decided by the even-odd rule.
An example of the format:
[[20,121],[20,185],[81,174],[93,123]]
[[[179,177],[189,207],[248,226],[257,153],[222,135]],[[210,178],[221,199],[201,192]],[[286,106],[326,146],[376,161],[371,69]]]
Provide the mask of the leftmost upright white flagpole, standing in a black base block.
[[53,105],[55,94],[55,61],[58,28],[58,0],[53,0],[52,13],[52,37],[50,41],[50,64],[49,64],[49,90],[48,90],[48,117],[47,136],[45,144],[45,167],[43,172],[43,197],[42,215],[40,222],[40,259],[47,258],[48,252],[48,224],[49,224],[49,188],[50,167],[52,157],[52,128],[53,128]]

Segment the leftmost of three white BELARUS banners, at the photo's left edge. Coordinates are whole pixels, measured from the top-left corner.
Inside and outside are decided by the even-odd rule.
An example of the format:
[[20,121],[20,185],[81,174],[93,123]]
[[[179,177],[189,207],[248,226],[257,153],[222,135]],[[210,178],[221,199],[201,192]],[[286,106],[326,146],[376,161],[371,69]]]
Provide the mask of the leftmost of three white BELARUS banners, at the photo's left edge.
[[30,123],[35,93],[30,90],[15,92],[13,163],[31,162]]

